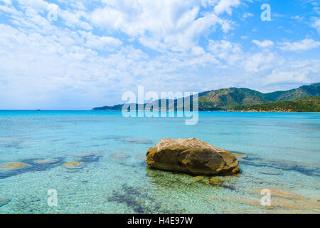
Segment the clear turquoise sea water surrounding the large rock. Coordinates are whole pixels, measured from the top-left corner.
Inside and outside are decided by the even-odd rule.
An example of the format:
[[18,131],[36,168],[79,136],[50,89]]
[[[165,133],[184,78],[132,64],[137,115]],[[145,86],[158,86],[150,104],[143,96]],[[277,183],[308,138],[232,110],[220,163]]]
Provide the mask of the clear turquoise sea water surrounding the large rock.
[[[198,138],[245,154],[242,173],[211,184],[153,170],[145,153],[162,138]],[[200,112],[198,124],[185,125],[119,111],[4,110],[0,213],[319,213],[319,161],[319,113]],[[7,162],[28,165],[1,166]],[[260,204],[265,188],[271,207]],[[48,206],[50,189],[57,207]]]

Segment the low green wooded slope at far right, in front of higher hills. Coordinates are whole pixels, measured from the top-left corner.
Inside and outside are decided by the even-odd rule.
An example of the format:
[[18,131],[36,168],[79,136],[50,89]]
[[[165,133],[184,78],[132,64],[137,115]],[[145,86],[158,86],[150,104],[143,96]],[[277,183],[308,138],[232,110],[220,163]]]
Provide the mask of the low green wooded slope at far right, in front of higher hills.
[[320,112],[320,96],[292,101],[278,101],[262,105],[238,106],[234,110],[257,112]]

